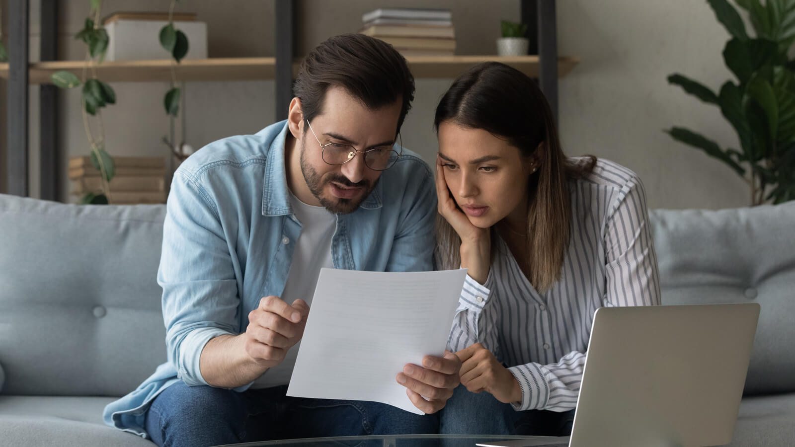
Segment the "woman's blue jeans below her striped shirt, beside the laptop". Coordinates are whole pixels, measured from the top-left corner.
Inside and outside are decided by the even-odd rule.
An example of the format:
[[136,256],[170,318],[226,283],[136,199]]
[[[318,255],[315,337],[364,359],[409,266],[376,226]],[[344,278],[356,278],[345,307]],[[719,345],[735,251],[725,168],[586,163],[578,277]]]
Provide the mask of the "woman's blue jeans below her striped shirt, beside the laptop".
[[459,385],[447,405],[439,412],[442,434],[520,434],[568,436],[572,433],[574,410],[557,413],[548,410],[516,411],[482,391],[472,393]]

